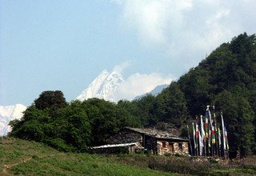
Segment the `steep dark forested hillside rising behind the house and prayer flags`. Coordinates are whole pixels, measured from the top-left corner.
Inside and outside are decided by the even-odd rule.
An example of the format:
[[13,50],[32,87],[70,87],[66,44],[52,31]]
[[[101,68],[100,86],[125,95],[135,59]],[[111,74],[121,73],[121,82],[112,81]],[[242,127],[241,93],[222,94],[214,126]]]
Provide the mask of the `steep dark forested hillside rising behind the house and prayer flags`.
[[[168,122],[177,127],[205,114],[206,105],[222,110],[230,150],[242,156],[256,153],[256,37],[246,33],[223,43],[156,98],[118,102],[144,126]],[[128,105],[126,105],[128,104]],[[220,122],[220,114],[217,114]]]

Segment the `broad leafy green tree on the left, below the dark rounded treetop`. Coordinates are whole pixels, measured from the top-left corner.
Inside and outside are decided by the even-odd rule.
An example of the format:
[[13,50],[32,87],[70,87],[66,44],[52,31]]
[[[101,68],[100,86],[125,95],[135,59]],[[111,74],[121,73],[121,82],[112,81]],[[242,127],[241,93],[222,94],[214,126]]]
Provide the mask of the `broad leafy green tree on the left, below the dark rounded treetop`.
[[42,110],[35,105],[27,108],[20,121],[10,122],[13,128],[10,136],[44,142],[62,151],[86,151],[90,146],[91,126],[82,102],[56,109],[57,102]]

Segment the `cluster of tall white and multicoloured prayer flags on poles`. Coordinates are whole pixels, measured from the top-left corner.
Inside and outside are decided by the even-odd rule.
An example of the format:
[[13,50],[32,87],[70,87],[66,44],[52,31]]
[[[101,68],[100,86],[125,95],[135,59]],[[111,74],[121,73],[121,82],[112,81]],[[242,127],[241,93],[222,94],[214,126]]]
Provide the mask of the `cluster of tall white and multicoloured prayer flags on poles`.
[[[230,147],[222,112],[220,113],[220,118],[221,124],[218,124],[215,107],[212,106],[211,113],[210,106],[206,106],[205,118],[201,115],[200,118],[196,117],[195,122],[192,122],[193,145],[190,143],[190,153],[192,155],[228,157]],[[189,126],[187,126],[187,130],[190,138]]]

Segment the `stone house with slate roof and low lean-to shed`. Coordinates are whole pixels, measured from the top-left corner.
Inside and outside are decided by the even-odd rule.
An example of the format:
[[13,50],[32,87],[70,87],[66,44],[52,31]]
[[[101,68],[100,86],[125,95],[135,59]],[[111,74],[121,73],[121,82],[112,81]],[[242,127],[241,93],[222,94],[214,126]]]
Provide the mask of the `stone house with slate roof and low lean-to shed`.
[[[116,153],[118,150],[137,153],[147,150],[152,154],[189,154],[189,139],[153,128],[126,127],[110,137],[105,146],[94,146],[94,153]],[[122,149],[121,149],[122,148]]]

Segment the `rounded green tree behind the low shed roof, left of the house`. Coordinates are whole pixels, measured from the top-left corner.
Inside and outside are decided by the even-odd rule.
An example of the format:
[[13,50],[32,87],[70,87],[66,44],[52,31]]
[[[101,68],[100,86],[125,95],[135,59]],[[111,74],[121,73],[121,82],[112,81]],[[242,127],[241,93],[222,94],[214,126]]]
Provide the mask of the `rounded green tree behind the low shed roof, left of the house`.
[[90,119],[92,146],[105,144],[110,135],[117,133],[125,126],[138,126],[138,120],[112,102],[91,98],[82,104]]

